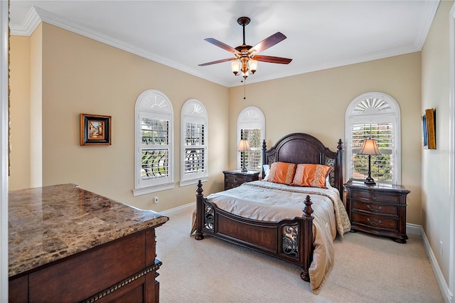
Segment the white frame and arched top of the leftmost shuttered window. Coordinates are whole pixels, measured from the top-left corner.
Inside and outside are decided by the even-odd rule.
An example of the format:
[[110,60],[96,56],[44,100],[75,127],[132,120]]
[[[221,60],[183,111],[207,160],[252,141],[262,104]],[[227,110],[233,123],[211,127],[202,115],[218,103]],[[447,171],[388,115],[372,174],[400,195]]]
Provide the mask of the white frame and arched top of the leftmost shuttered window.
[[[141,117],[168,117],[168,177],[144,186],[141,182]],[[173,108],[171,101],[159,90],[145,90],[137,97],[134,105],[134,189],[133,196],[164,191],[175,187],[173,182]]]

